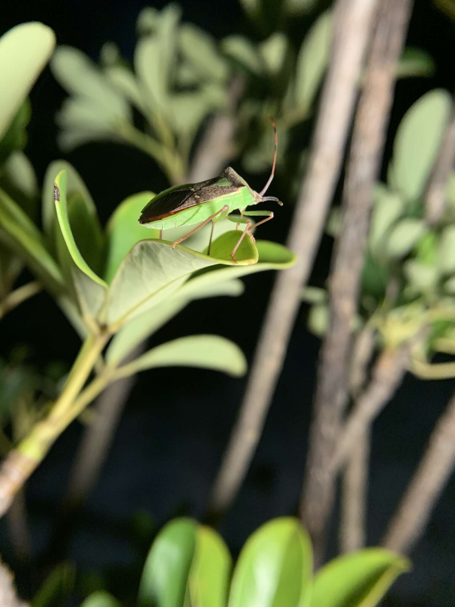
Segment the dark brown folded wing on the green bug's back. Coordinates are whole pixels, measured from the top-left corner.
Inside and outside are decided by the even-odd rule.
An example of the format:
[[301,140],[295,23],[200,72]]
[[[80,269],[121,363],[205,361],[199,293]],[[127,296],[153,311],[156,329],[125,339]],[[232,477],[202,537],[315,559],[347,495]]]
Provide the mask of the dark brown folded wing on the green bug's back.
[[[223,182],[226,185],[223,185]],[[217,185],[218,183],[219,185]],[[199,183],[187,183],[164,190],[155,198],[152,198],[142,209],[139,223],[150,223],[157,219],[164,219],[164,217],[169,217],[169,215],[182,211],[189,206],[200,205],[207,200],[212,200],[215,191],[220,191],[220,188],[226,194],[231,189],[232,191],[237,189],[223,174]]]

